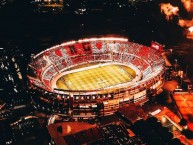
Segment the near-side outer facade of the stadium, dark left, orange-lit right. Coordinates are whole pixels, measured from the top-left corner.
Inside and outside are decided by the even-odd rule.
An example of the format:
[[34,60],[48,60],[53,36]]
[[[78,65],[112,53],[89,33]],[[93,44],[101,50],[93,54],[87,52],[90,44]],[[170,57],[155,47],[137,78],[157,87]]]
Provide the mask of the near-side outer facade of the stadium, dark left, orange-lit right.
[[[158,78],[157,81],[159,81],[162,76],[158,77],[160,78]],[[73,94],[73,97],[71,97],[73,92],[60,94],[57,92],[48,92],[37,87],[32,88],[30,92],[32,93],[33,106],[43,112],[63,113],[69,115],[69,108],[71,108],[74,111],[74,115],[79,117],[81,115],[97,116],[100,115],[99,112],[101,109],[104,111],[114,110],[119,107],[119,104],[133,103],[144,99],[144,90],[146,90],[147,87],[152,87],[153,84],[156,84],[156,86],[161,85],[161,83],[159,83],[160,81],[156,83],[157,81],[147,81],[144,82],[146,85],[136,86],[127,91],[125,90],[108,94],[87,93],[86,95],[81,95],[81,93],[79,94],[76,92]],[[89,115],[90,113],[91,115]]]

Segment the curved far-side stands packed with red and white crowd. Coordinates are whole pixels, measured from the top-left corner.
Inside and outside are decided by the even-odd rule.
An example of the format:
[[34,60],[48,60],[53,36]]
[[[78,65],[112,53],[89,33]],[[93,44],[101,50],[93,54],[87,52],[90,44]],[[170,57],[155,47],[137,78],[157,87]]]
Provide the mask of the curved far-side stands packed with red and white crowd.
[[[132,64],[142,73],[162,69],[164,64],[161,54],[150,47],[132,42],[91,41],[73,45],[59,45],[33,56],[28,67],[29,76],[43,82],[47,90],[51,89],[50,80],[78,64],[88,62],[121,62]],[[155,69],[154,69],[155,68]],[[150,73],[144,73],[144,78]],[[34,76],[36,75],[36,76]],[[41,84],[35,84],[40,85]]]

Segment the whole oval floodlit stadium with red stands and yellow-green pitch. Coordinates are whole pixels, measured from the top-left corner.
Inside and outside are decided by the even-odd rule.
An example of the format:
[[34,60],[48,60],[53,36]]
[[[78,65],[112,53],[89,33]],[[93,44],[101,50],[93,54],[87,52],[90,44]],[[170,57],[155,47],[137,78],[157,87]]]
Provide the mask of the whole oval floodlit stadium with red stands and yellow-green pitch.
[[34,107],[73,118],[94,118],[120,105],[144,102],[164,83],[160,51],[126,38],[69,41],[46,49],[28,65]]

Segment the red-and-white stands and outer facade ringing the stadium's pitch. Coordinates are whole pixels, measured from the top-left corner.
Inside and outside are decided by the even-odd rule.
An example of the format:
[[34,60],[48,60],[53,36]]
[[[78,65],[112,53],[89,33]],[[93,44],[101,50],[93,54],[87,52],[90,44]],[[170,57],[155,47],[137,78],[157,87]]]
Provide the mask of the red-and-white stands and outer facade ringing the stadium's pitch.
[[[142,73],[142,81],[137,82],[138,86],[127,90],[129,95],[120,91],[113,94],[86,93],[85,95],[78,95],[76,92],[72,101],[70,101],[71,92],[57,93],[57,90],[52,90],[51,80],[57,74],[77,65],[99,62],[120,62],[135,66]],[[140,94],[140,91],[152,87],[163,78],[163,66],[164,61],[158,51],[133,42],[101,40],[58,45],[33,56],[29,64],[29,86],[33,90],[31,95],[33,106],[44,112],[65,115],[70,114],[69,109],[74,109],[74,115],[77,116],[86,116],[90,113],[91,116],[98,115],[97,111],[101,106],[115,109],[114,107],[119,107],[121,102],[136,102],[143,99],[144,94]],[[158,73],[152,78],[151,73],[155,71],[154,69]]]

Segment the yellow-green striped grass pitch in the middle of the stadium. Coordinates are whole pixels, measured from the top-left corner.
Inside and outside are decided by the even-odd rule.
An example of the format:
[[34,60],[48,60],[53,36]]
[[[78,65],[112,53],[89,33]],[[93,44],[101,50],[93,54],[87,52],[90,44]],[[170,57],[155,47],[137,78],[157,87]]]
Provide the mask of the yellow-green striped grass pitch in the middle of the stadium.
[[122,65],[106,65],[62,76],[56,82],[58,89],[97,90],[132,81],[133,69]]

